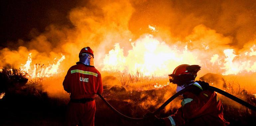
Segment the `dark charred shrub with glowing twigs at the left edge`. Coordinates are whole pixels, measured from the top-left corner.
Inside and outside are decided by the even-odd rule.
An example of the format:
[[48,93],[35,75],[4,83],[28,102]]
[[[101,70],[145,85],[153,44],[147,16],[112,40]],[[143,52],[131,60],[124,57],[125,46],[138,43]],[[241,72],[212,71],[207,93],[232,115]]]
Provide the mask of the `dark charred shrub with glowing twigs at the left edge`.
[[[24,104],[30,106],[48,99],[48,95],[43,91],[40,83],[28,83],[29,75],[7,64],[0,71],[0,93],[5,92],[4,101],[6,103]],[[12,103],[16,102],[16,103]]]

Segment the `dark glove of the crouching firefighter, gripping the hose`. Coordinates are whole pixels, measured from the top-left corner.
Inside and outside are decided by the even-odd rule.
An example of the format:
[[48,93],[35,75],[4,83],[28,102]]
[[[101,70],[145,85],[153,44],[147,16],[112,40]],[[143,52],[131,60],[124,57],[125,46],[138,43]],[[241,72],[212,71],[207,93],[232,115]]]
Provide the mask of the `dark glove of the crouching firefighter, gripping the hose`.
[[157,118],[152,112],[148,112],[144,116],[147,126],[165,126],[165,121],[162,118]]

